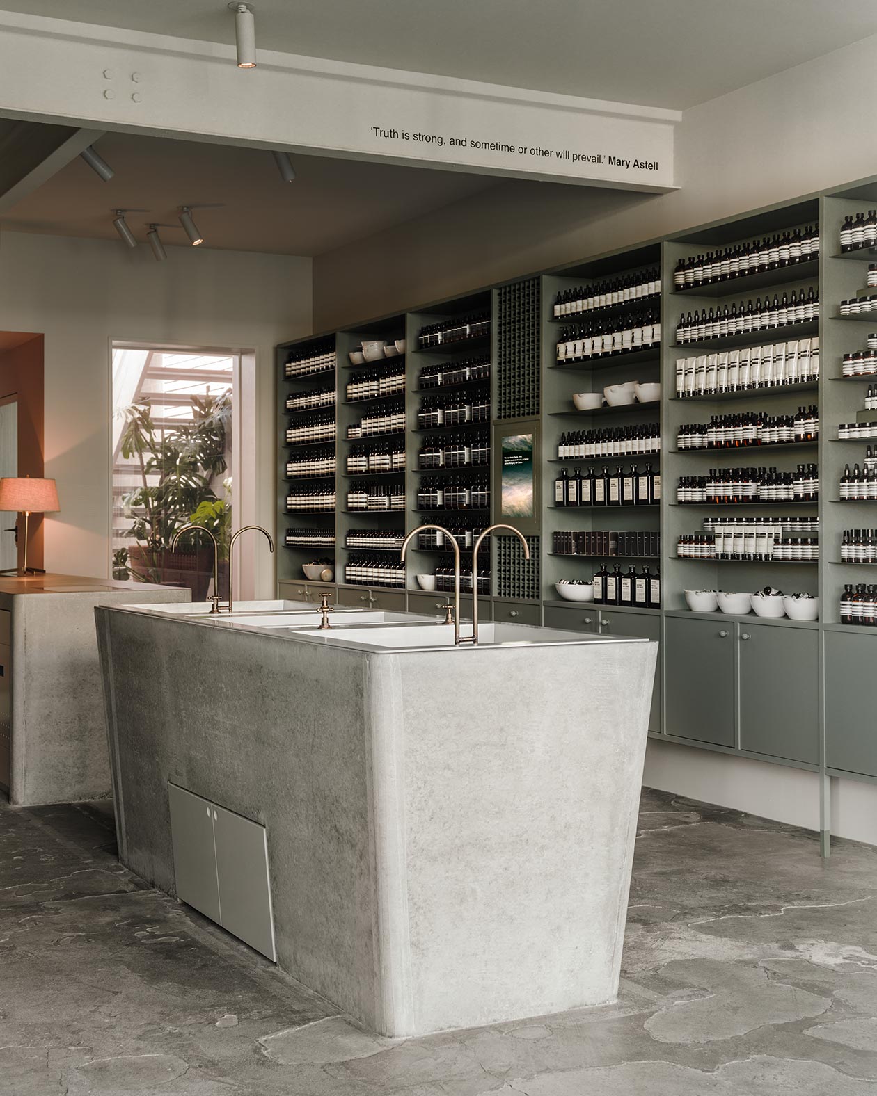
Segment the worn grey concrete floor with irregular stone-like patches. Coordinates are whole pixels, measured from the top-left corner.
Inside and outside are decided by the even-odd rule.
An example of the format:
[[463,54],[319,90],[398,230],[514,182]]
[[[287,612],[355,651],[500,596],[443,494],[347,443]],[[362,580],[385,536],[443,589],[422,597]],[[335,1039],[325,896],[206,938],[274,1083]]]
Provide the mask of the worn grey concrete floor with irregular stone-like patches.
[[645,791],[617,1005],[394,1042],[0,807],[3,1096],[877,1096],[877,850]]

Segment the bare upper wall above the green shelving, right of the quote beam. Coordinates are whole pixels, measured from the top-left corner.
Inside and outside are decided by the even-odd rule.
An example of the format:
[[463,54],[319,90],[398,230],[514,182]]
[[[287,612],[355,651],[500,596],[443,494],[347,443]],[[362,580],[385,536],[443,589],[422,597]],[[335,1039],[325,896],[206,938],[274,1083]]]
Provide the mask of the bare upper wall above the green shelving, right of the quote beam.
[[[686,111],[679,191],[504,182],[314,261],[318,329],[574,262],[877,172],[877,36]],[[684,64],[684,59],[681,61]]]

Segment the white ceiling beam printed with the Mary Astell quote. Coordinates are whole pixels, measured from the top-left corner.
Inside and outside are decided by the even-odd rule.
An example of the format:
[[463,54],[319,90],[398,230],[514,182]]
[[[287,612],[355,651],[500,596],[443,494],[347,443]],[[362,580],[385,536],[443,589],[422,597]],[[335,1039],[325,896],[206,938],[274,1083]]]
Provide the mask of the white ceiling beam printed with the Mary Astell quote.
[[[266,45],[268,43],[266,42]],[[0,11],[0,116],[662,193],[682,112]],[[586,60],[583,60],[586,64]]]

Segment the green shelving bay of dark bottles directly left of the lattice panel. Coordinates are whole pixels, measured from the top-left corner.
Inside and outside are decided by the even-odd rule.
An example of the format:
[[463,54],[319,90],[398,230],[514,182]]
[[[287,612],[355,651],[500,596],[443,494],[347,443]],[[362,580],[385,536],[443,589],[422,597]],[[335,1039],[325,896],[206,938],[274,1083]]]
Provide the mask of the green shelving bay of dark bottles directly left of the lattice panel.
[[[421,406],[424,399],[429,397],[436,397],[441,400],[442,396],[446,393],[460,393],[461,391],[477,390],[479,387],[487,388],[493,384],[494,374],[494,362],[495,358],[491,353],[491,370],[490,377],[483,380],[470,380],[460,381],[454,385],[440,385],[435,388],[423,388],[419,384],[419,373],[420,369],[430,366],[438,365],[442,361],[457,362],[461,358],[466,357],[481,357],[485,353],[492,352],[493,350],[493,330],[495,327],[495,315],[493,311],[493,304],[490,290],[483,293],[470,294],[464,297],[451,298],[439,305],[431,305],[420,311],[409,312],[407,315],[407,340],[408,347],[417,347],[417,335],[420,329],[427,324],[435,323],[441,320],[451,319],[453,317],[462,317],[472,313],[484,312],[491,310],[491,334],[486,336],[479,336],[477,339],[472,339],[461,343],[459,345],[452,346],[449,344],[446,347],[432,346],[426,350],[417,350],[416,357],[411,362],[411,368],[408,370],[407,377],[407,396],[406,396],[406,415],[407,415],[407,443],[406,443],[406,468],[408,475],[406,476],[406,509],[407,509],[407,530],[411,532],[415,529],[418,525],[426,525],[435,523],[438,525],[460,524],[468,525],[470,522],[473,528],[484,528],[490,525],[490,511],[476,511],[476,510],[423,510],[417,504],[417,492],[425,479],[430,476],[435,476],[436,479],[442,481],[453,479],[454,476],[460,479],[471,481],[476,476],[481,479],[490,480],[491,468],[481,466],[469,466],[458,469],[421,469],[419,467],[419,450],[423,442],[426,437],[434,435],[437,437],[452,437],[454,434],[465,434],[471,435],[475,432],[482,431],[490,435],[491,431],[491,420],[487,419],[483,422],[469,422],[459,423],[450,426],[425,426],[420,427],[417,425],[417,412]],[[412,475],[413,473],[413,475]],[[459,518],[452,521],[453,518]],[[469,561],[466,561],[466,550],[461,550],[461,567],[468,567],[471,564],[472,552],[468,552]],[[425,591],[419,585],[416,575],[421,574],[435,574],[437,567],[448,566],[448,561],[453,557],[453,550],[432,550],[428,548],[417,548],[416,540],[412,541],[411,555],[406,559],[406,585],[409,593],[420,593],[424,594]],[[490,557],[487,557],[488,559]],[[447,592],[442,591],[428,591],[426,593],[435,593],[440,597],[447,596]],[[471,597],[471,595],[470,595]],[[488,594],[480,594],[479,601],[484,601],[485,603],[490,601]]]

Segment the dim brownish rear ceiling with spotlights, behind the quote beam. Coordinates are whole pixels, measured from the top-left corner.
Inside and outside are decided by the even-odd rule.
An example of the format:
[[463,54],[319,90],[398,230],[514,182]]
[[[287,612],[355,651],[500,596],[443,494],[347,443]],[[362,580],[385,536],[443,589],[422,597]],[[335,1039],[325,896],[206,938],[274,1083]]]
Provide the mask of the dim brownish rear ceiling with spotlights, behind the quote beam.
[[[189,3],[191,0],[184,0]],[[0,218],[13,231],[117,239],[112,208],[143,240],[149,221],[193,210],[205,247],[316,255],[496,185],[493,176],[294,157],[281,180],[270,152],[231,145],[106,134],[94,146],[115,171],[104,183],[78,157]],[[161,230],[169,244],[179,229]]]

